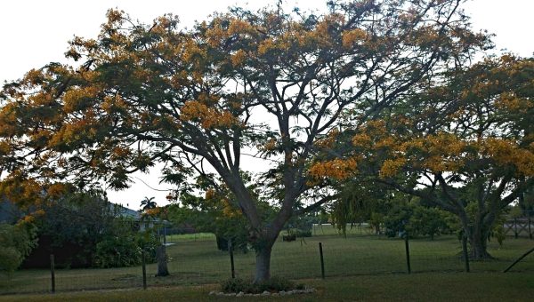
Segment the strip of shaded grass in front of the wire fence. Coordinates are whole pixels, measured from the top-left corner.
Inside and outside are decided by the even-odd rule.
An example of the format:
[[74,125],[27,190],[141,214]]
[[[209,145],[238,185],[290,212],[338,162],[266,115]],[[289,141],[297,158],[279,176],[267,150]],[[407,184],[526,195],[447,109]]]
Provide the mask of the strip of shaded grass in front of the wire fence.
[[159,287],[55,295],[0,296],[0,301],[531,301],[531,273],[421,273],[303,280],[318,291],[289,297],[219,298],[208,296],[218,286]]

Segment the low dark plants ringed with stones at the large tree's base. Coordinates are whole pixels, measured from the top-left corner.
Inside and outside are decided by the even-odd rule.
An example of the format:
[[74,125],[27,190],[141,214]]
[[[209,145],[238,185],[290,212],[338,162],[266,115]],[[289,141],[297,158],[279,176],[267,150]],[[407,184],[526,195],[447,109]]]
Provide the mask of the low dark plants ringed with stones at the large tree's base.
[[239,292],[258,294],[263,291],[279,292],[282,290],[303,290],[303,284],[296,284],[286,278],[274,276],[264,282],[255,283],[241,278],[228,279],[221,283],[223,292]]

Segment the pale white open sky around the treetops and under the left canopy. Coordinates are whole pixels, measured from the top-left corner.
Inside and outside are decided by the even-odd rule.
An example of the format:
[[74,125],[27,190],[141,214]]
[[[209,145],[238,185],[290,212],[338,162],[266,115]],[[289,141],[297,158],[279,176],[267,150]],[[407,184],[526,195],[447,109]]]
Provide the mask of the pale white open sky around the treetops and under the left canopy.
[[[31,68],[40,68],[51,61],[64,62],[67,41],[74,35],[95,37],[109,8],[119,8],[134,19],[150,23],[167,12],[180,16],[182,26],[194,20],[205,20],[211,12],[224,11],[233,4],[256,9],[276,1],[239,0],[4,0],[0,1],[0,83],[23,76]],[[326,0],[286,0],[289,7],[322,9]],[[496,34],[497,49],[506,49],[521,56],[534,53],[534,0],[471,0],[464,4],[472,17],[473,28]],[[159,185],[157,173],[138,175],[150,187]],[[135,179],[136,180],[136,179]],[[167,186],[168,187],[168,186]],[[156,196],[159,205],[166,204],[166,193],[158,192],[137,181],[122,192],[109,192],[115,203],[139,207],[144,196]]]

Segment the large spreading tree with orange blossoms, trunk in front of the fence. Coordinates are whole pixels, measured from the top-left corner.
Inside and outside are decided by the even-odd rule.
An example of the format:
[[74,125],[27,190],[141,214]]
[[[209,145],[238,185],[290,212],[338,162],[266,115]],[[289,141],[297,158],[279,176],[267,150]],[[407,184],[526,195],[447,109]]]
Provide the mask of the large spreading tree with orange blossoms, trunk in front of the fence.
[[[286,221],[335,199],[308,177],[328,133],[487,45],[460,2],[332,1],[321,15],[235,8],[190,30],[171,15],[142,25],[110,10],[100,36],[71,41],[66,55],[81,65],[51,63],[4,86],[0,171],[117,189],[155,163],[174,183],[200,174],[220,187],[216,173],[247,218],[263,281]],[[249,154],[268,167],[258,175],[278,209],[268,221],[242,179]],[[336,164],[324,173],[353,163]]]

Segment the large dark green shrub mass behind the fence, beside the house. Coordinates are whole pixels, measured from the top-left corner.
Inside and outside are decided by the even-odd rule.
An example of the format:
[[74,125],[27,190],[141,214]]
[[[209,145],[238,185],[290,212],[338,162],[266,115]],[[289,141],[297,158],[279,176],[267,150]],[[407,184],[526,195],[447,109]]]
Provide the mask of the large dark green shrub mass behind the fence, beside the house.
[[[53,252],[59,267],[135,266],[141,264],[142,248],[147,262],[155,260],[155,232],[140,232],[140,222],[122,217],[124,209],[109,203],[101,190],[65,192],[44,204],[43,210],[36,219],[37,234],[50,246],[39,249]],[[47,259],[32,259],[34,266],[43,261]]]

